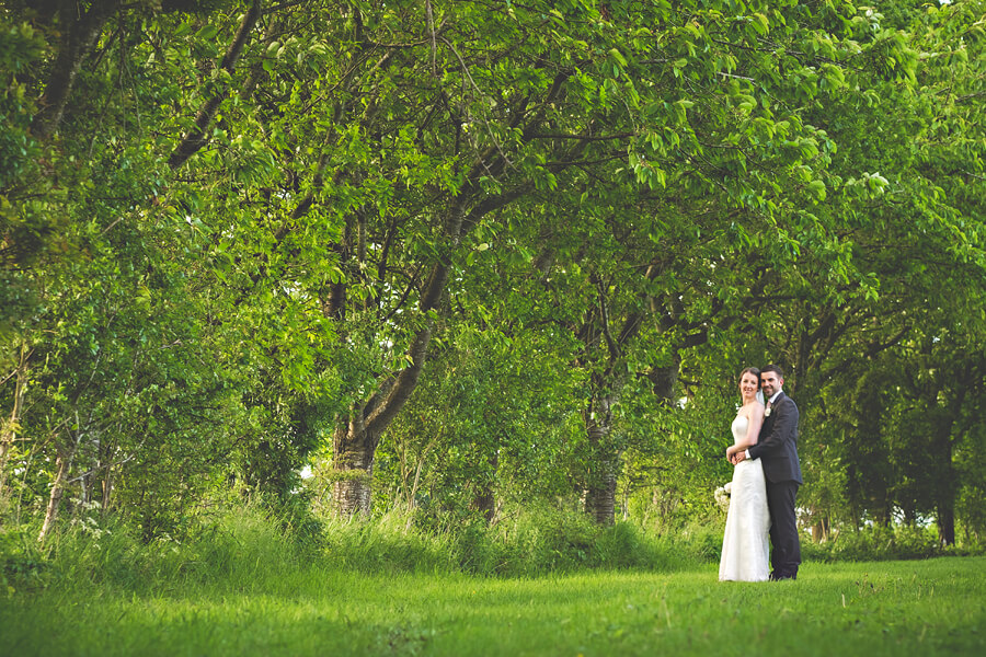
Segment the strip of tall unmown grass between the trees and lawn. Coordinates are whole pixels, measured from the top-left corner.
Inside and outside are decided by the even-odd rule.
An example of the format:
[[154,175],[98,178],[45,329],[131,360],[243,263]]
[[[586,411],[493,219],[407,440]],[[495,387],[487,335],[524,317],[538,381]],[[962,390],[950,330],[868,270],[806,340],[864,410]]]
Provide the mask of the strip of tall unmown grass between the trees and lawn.
[[[294,525],[293,525],[294,522]],[[462,573],[537,577],[585,569],[673,572],[719,561],[721,523],[695,522],[672,534],[647,533],[629,522],[599,528],[584,515],[549,506],[518,509],[492,527],[423,526],[392,510],[372,521],[293,521],[259,505],[218,514],[187,537],[151,543],[123,525],[78,522],[43,553],[36,528],[0,528],[0,593],[92,585],[133,591],[225,583],[253,590],[300,565],[321,563],[365,574]],[[868,528],[821,545],[803,542],[806,561],[880,561],[968,554],[943,551],[932,530]],[[982,550],[979,551],[982,554]]]

